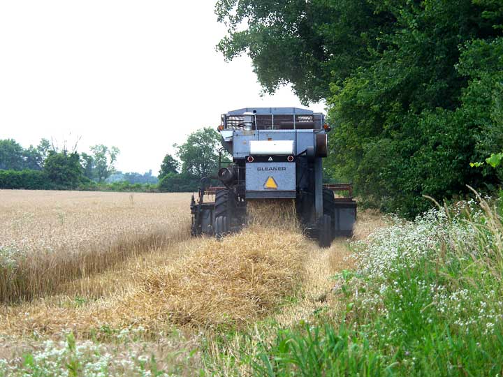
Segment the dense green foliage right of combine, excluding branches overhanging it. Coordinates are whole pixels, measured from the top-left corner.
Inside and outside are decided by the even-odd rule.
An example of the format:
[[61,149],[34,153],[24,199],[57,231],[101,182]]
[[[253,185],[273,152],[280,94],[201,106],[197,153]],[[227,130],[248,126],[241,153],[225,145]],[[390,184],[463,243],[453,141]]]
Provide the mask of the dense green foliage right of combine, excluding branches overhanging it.
[[364,201],[412,218],[430,206],[421,195],[451,198],[466,184],[497,184],[494,171],[469,163],[503,147],[494,115],[503,98],[502,39],[470,1],[386,9],[401,25],[384,37],[386,52],[332,86],[328,163]]

